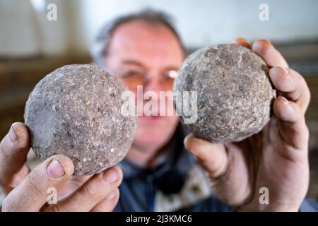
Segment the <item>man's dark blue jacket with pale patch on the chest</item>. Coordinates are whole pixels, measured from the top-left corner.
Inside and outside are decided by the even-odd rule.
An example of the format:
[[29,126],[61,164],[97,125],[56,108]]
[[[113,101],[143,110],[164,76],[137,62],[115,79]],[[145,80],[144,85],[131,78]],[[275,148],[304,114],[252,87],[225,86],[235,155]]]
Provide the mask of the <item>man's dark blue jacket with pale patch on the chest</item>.
[[[213,194],[206,172],[184,149],[186,134],[179,125],[155,169],[128,160],[119,164],[124,179],[114,211],[232,211]],[[318,203],[305,200],[300,211],[318,211]]]

